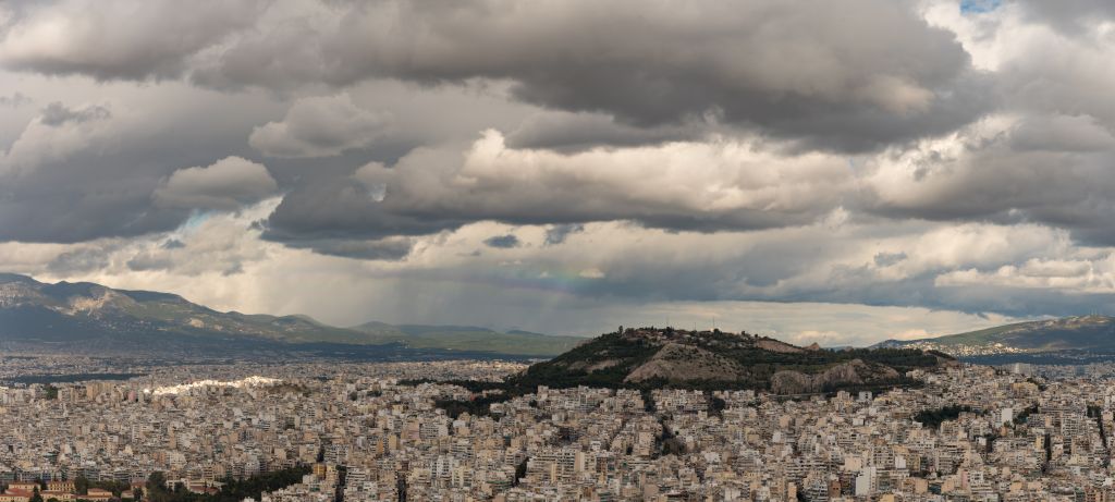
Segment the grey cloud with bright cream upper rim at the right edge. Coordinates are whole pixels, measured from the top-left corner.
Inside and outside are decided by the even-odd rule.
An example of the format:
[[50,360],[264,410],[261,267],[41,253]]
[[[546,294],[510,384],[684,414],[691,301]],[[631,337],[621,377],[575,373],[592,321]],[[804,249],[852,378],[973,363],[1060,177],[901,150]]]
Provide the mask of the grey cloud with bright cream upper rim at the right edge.
[[[1115,138],[1089,117],[1035,116],[991,137],[962,136],[961,144],[884,164],[867,184],[864,209],[886,218],[1040,222],[1115,243]],[[903,163],[917,168],[896,168]]]

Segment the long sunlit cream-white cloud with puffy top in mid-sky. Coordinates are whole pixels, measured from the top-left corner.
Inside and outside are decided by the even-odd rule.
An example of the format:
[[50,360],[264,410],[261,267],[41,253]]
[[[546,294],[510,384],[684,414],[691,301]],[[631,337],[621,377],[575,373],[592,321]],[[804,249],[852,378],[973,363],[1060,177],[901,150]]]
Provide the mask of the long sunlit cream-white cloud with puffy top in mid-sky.
[[421,149],[391,167],[368,164],[355,177],[385,191],[379,204],[389,212],[679,229],[809,223],[854,186],[842,158],[787,156],[746,139],[562,154],[507,147],[491,129],[463,160]]

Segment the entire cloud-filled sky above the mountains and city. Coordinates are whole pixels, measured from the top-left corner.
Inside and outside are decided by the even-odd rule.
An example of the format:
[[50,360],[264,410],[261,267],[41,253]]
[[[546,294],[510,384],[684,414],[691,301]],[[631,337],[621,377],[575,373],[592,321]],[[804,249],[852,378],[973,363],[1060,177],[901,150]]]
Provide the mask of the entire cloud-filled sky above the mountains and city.
[[1105,0],[0,3],[0,271],[864,345],[1115,311]]

